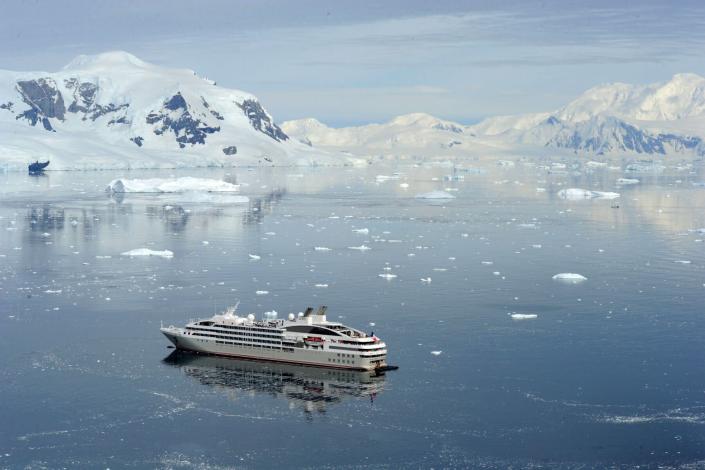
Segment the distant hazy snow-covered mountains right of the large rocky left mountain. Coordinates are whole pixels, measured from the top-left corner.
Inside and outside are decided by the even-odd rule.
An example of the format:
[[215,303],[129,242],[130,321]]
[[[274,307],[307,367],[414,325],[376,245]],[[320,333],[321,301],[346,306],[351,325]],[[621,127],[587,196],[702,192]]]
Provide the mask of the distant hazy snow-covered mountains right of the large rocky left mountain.
[[472,126],[411,114],[386,124],[331,129],[315,120],[282,128],[313,146],[408,157],[571,151],[598,155],[705,155],[705,78],[615,83],[587,90],[553,112],[498,116]]

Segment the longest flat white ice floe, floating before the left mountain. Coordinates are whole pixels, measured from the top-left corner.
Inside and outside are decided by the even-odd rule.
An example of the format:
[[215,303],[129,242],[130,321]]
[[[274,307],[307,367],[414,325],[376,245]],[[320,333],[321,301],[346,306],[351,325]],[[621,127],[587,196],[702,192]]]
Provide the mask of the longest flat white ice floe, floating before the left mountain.
[[237,192],[240,186],[209,178],[149,178],[115,179],[105,189],[108,193],[181,193],[197,192]]

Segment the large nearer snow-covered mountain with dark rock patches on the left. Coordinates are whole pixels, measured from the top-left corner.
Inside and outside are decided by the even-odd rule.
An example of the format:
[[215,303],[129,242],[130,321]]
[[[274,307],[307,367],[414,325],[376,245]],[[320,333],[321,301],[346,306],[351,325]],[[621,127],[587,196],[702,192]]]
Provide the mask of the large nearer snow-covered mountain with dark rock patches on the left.
[[63,70],[0,71],[0,167],[52,169],[341,163],[303,145],[249,93],[126,52]]

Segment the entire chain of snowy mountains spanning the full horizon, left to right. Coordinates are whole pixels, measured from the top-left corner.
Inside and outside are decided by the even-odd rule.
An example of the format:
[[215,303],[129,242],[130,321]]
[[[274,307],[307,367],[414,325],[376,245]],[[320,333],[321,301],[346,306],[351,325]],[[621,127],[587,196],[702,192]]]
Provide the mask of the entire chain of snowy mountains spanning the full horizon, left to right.
[[127,52],[59,72],[0,70],[0,169],[347,164],[494,155],[705,155],[705,79],[601,85],[553,112],[475,125],[428,114],[331,128],[274,122],[259,100]]

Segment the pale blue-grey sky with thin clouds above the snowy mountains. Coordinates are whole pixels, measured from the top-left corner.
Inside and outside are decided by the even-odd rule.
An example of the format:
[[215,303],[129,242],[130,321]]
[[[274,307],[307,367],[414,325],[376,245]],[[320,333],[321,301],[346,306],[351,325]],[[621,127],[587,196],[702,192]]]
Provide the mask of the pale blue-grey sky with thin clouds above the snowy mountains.
[[109,50],[253,93],[280,122],[469,124],[599,84],[705,76],[705,1],[2,2],[2,69]]

